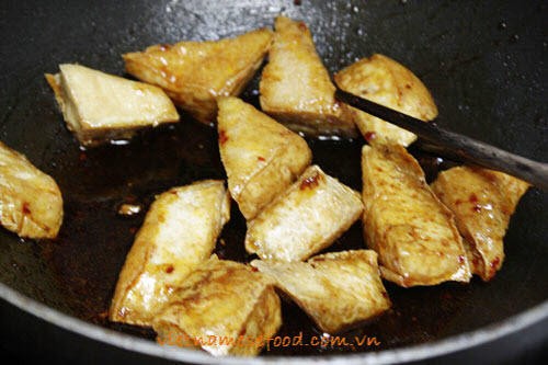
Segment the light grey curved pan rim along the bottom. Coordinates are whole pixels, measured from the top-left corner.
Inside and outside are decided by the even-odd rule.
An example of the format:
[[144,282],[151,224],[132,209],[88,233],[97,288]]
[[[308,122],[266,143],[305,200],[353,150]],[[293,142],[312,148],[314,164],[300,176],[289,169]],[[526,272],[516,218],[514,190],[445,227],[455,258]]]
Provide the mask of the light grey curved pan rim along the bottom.
[[473,331],[456,334],[439,341],[392,349],[380,352],[361,354],[341,354],[320,356],[263,356],[263,357],[215,357],[206,352],[186,349],[160,346],[152,341],[137,338],[132,334],[117,332],[111,329],[92,324],[57,309],[36,301],[28,296],[0,282],[0,298],[42,320],[60,327],[69,332],[83,335],[90,340],[100,341],[114,347],[130,352],[138,352],[149,356],[157,356],[170,361],[183,361],[197,364],[266,364],[283,361],[292,364],[312,364],[318,362],[341,364],[393,364],[408,363],[435,358],[461,350],[471,349],[523,330],[545,319],[548,319],[548,300],[543,301],[517,315],[502,321],[491,323]]

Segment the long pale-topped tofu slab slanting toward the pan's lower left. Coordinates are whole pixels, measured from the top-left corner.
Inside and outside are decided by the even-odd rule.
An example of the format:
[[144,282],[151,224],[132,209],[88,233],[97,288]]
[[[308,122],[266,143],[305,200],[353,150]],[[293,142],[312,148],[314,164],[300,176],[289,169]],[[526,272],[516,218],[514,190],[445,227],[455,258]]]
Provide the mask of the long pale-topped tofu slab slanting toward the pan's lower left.
[[222,181],[201,181],[159,195],[126,258],[109,318],[150,326],[176,285],[210,256],[229,219],[230,197]]

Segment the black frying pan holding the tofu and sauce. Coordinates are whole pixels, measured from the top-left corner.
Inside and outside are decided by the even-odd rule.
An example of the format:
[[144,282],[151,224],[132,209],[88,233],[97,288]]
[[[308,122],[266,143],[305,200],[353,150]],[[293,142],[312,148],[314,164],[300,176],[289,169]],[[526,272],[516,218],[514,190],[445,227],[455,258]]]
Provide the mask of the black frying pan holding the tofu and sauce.
[[[2,1],[0,138],[54,176],[65,201],[59,237],[22,240],[0,230],[1,350],[18,358],[212,363],[201,352],[153,343],[153,332],[111,323],[117,275],[144,213],[158,194],[201,179],[225,179],[217,134],[182,114],[181,123],[139,134],[124,146],[79,148],[44,72],[58,64],[124,75],[121,54],[158,43],[218,39],[277,14],[304,20],[331,72],[373,53],[413,70],[432,91],[444,128],[525,157],[548,160],[548,19],[544,1]],[[258,105],[255,78],[242,94]],[[308,140],[313,161],[361,190],[362,139]],[[429,179],[452,166],[411,148]],[[272,347],[254,361],[402,363],[464,358],[538,360],[548,345],[548,194],[530,189],[512,217],[506,259],[490,283],[403,289],[386,283],[393,307],[356,330],[378,347]],[[244,219],[232,219],[216,252],[247,262]],[[364,248],[359,223],[331,248]],[[321,333],[289,303],[279,335]],[[352,351],[354,350],[354,351]],[[281,357],[284,356],[284,357]],[[285,357],[292,356],[292,357]],[[525,357],[524,357],[525,356]],[[528,356],[528,357],[527,357]],[[241,360],[239,360],[241,362]]]

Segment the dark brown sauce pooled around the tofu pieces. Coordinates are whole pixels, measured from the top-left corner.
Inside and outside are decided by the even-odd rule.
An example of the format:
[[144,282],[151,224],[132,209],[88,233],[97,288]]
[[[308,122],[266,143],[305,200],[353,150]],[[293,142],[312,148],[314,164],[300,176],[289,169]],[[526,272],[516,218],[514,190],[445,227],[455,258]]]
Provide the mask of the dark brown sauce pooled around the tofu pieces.
[[[243,99],[256,105],[256,95],[250,90]],[[60,115],[59,123],[62,123]],[[226,179],[218,152],[219,136],[215,128],[199,124],[185,113],[182,113],[181,123],[141,133],[127,145],[106,145],[82,151],[68,130],[62,134],[72,141],[66,149],[50,151],[47,158],[55,161],[53,174],[64,192],[65,221],[56,240],[41,243],[42,254],[58,283],[61,301],[73,316],[83,320],[153,340],[156,334],[149,329],[107,320],[117,276],[155,195],[202,179]],[[310,139],[308,142],[313,163],[361,191],[359,159],[364,139]],[[431,181],[443,161],[411,150]],[[313,182],[307,184],[306,187]],[[127,203],[142,208],[134,215],[119,215],[119,206]],[[244,218],[232,202],[231,219],[215,252],[221,259],[239,262],[255,259],[244,250]],[[358,221],[326,251],[363,248]],[[340,333],[349,345],[271,345],[261,355],[355,353],[432,341],[447,335],[445,329],[469,296],[469,286],[457,283],[411,289],[387,282],[385,285],[392,301],[391,309]],[[432,312],[432,305],[423,305],[426,301],[436,304],[436,312]],[[312,337],[322,337],[296,305],[283,300],[282,310],[284,323],[277,335],[293,338],[302,333],[302,343],[309,343]],[[364,335],[375,338],[380,344],[358,346],[356,338],[362,340]]]

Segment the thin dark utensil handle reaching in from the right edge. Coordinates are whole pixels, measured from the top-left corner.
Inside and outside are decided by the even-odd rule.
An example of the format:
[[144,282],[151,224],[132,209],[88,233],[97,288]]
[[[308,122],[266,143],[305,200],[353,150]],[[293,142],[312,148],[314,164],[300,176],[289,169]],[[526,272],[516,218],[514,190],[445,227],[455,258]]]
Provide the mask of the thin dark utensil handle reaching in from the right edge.
[[438,153],[446,151],[449,157],[458,158],[463,162],[502,171],[548,191],[548,163],[533,161],[457,133],[444,130],[433,123],[424,123],[339,88],[335,99],[414,133],[431,144],[431,151],[435,150]]

